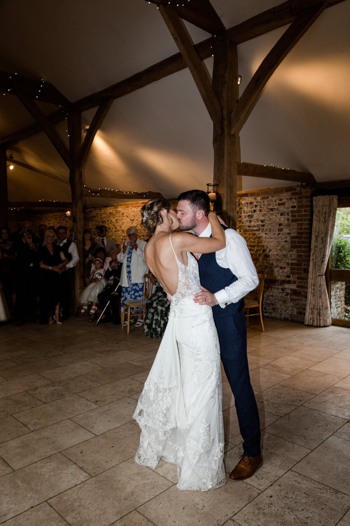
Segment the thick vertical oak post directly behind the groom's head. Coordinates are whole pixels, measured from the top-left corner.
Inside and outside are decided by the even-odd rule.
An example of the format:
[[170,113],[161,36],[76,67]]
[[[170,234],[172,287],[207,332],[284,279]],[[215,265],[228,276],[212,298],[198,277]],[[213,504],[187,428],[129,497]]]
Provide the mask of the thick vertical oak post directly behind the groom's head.
[[238,99],[237,46],[220,36],[214,46],[213,87],[223,108],[222,133],[214,128],[214,183],[219,185],[217,209],[230,228],[237,221],[237,160],[240,160],[239,137],[231,134],[231,113]]

